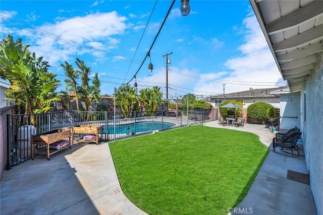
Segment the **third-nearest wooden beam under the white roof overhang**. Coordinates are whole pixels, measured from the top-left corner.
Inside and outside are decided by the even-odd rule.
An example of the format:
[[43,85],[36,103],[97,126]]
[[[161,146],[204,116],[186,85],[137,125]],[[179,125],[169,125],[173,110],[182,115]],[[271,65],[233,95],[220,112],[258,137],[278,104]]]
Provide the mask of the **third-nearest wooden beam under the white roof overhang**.
[[286,54],[279,55],[279,56],[277,56],[277,60],[279,62],[296,60],[298,58],[305,57],[305,56],[308,56],[308,55],[311,55],[311,54],[314,54],[314,53],[317,53],[320,51],[322,51],[321,44],[320,44],[320,42],[316,42],[316,43],[312,43],[310,45],[298,48],[298,49],[288,52]]

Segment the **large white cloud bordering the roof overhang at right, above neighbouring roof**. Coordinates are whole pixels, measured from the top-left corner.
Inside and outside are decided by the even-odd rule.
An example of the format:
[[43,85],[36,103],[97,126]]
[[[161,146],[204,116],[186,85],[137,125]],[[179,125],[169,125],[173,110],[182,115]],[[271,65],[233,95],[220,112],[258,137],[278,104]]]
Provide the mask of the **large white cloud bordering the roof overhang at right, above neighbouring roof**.
[[[194,88],[195,94],[200,92],[233,93],[254,89],[274,88],[282,81],[274,57],[267,46],[267,42],[253,14],[249,14],[243,21],[245,26],[244,43],[237,49],[242,52],[239,57],[228,59],[224,66],[227,71],[218,74],[204,74],[203,77],[214,77],[213,82],[199,80]],[[214,40],[213,40],[214,42]],[[265,83],[260,83],[265,82]],[[285,86],[286,84],[279,84]]]

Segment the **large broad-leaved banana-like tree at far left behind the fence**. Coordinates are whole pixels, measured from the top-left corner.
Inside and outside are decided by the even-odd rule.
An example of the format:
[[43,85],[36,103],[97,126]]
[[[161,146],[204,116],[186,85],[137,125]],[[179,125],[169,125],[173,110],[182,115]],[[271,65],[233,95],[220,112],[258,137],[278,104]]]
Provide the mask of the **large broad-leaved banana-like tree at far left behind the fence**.
[[50,103],[59,101],[55,90],[60,86],[56,75],[48,73],[48,62],[28,51],[22,40],[13,41],[8,35],[0,42],[0,75],[11,84],[5,94],[7,100],[24,105],[25,113],[46,112]]

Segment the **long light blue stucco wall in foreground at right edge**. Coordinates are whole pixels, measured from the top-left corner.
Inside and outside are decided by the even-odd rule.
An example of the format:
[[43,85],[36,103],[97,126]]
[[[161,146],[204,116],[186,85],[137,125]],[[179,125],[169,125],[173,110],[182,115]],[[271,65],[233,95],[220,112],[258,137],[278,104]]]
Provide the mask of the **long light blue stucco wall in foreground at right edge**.
[[[322,45],[323,50],[323,45]],[[316,68],[311,70],[301,94],[302,130],[305,131],[306,164],[317,214],[323,214],[323,53],[317,54]],[[304,96],[304,94],[306,96]],[[306,107],[304,107],[306,106]],[[306,120],[304,121],[304,114]]]

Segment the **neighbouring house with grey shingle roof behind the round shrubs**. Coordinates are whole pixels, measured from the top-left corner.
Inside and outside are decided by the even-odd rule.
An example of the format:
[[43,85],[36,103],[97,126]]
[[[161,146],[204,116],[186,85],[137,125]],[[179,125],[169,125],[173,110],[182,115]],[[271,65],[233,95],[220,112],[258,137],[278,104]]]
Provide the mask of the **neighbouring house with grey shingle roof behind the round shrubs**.
[[237,93],[228,93],[224,95],[211,96],[208,102],[213,107],[219,107],[219,105],[226,101],[241,100],[245,102],[243,108],[247,108],[250,104],[255,102],[266,102],[274,107],[280,107],[280,92],[285,91],[288,88],[265,88],[265,89],[253,89],[250,88],[247,91],[241,91]]

